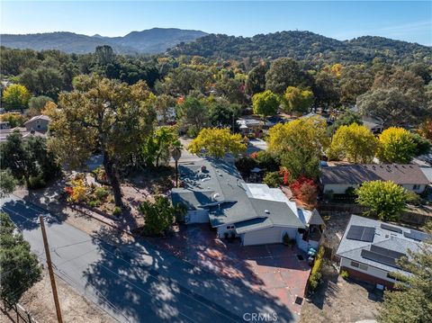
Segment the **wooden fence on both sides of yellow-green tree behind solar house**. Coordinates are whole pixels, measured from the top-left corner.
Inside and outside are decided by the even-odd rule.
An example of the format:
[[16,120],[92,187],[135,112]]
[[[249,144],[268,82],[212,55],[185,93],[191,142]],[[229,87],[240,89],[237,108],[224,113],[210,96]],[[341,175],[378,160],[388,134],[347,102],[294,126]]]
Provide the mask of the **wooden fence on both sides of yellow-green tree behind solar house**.
[[[365,206],[358,204],[347,203],[319,203],[317,206],[321,216],[338,215],[338,214],[362,214],[369,209]],[[425,211],[419,213],[410,209],[401,213],[401,221],[417,226],[424,225],[428,220],[432,220],[432,212]]]

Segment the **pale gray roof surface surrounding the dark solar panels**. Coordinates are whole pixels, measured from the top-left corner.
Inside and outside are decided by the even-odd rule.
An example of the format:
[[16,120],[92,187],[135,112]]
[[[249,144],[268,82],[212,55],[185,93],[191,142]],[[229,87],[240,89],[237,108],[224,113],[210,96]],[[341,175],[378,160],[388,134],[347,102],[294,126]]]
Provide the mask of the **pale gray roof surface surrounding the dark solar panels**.
[[[365,217],[360,217],[357,215],[352,215],[351,219],[348,222],[347,229],[345,230],[343,238],[340,240],[337,255],[341,257],[345,257],[350,260],[354,260],[358,263],[362,263],[365,265],[371,265],[376,268],[383,269],[387,272],[397,272],[401,274],[407,274],[407,272],[393,267],[391,265],[384,265],[382,263],[366,259],[363,257],[362,250],[370,250],[371,246],[376,247],[384,247],[386,249],[390,249],[392,251],[396,251],[402,254],[407,254],[407,251],[410,249],[413,252],[419,250],[419,247],[422,245],[422,242],[405,237],[404,233],[414,233],[417,235],[426,236],[423,232],[403,228],[400,226],[392,225],[392,227],[401,229],[402,232],[394,232],[392,230],[381,228],[381,224],[383,222],[379,220],[373,220]],[[374,228],[374,239],[372,242],[366,241],[358,241],[353,239],[347,239],[347,232],[351,228],[351,226],[363,226],[363,227],[372,227]],[[408,255],[407,255],[408,256]]]

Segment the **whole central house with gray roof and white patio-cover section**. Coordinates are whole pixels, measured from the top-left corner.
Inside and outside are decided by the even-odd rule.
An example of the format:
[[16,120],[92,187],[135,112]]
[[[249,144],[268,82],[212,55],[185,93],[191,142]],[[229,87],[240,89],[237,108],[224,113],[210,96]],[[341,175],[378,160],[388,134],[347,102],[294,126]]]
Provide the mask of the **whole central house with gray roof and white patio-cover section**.
[[281,190],[246,184],[234,165],[220,160],[182,165],[179,170],[184,187],[172,190],[172,200],[186,206],[186,223],[210,222],[218,237],[234,235],[244,246],[281,243],[286,233],[302,240],[303,250],[318,247],[323,222],[315,223],[320,215],[302,211],[301,216]]

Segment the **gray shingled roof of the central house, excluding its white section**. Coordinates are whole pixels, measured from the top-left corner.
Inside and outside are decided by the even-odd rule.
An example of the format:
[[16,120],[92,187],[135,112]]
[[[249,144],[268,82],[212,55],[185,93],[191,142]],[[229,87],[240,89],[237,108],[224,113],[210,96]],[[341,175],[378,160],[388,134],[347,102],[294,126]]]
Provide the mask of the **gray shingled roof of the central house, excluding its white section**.
[[212,227],[236,223],[242,232],[277,225],[304,228],[286,202],[248,196],[245,182],[229,162],[207,158],[179,166],[179,172],[184,188],[173,189],[173,202],[183,202],[188,210],[208,209]]

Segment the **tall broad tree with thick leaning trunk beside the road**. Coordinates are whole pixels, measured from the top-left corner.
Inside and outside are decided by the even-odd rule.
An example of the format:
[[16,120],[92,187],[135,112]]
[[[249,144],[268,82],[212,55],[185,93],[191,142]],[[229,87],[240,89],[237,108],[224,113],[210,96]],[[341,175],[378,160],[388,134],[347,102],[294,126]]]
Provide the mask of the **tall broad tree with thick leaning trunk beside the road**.
[[49,129],[50,148],[68,166],[82,165],[95,150],[121,207],[119,167],[139,154],[156,118],[156,97],[144,82],[126,85],[98,76],[78,76],[74,91],[59,95]]

